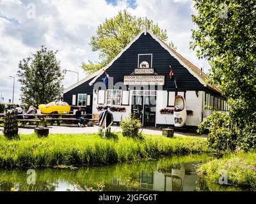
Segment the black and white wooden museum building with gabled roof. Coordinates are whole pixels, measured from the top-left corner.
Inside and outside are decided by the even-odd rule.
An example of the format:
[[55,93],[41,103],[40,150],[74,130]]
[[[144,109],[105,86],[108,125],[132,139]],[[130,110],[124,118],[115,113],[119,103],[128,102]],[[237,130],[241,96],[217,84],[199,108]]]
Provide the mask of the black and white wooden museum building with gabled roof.
[[[176,84],[170,80],[171,68]],[[100,106],[109,105],[115,122],[140,112],[144,126],[164,127],[173,125],[172,114],[164,110],[172,109],[175,96],[181,95],[191,110],[186,125],[195,127],[211,113],[205,105],[227,110],[225,97],[205,82],[206,77],[150,31],[143,31],[108,66],[65,89],[63,98],[87,113],[99,113]]]

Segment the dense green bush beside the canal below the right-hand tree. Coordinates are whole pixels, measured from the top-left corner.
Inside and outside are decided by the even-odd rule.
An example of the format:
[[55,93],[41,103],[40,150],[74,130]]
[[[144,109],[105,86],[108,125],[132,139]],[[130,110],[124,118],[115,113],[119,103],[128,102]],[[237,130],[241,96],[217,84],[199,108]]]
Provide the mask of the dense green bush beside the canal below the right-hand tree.
[[[239,119],[237,119],[239,120]],[[207,144],[212,150],[219,152],[244,150],[256,147],[256,123],[251,121],[243,126],[230,113],[214,111],[202,122],[197,132],[202,134],[209,130]]]

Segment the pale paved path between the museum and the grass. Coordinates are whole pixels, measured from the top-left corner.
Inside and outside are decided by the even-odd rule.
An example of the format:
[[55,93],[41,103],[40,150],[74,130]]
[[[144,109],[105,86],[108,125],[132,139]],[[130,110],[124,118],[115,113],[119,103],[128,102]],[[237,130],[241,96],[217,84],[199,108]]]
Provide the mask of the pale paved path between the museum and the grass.
[[[50,134],[81,134],[81,133],[97,133],[98,128],[96,126],[94,127],[65,127],[65,126],[48,126],[49,133]],[[3,129],[0,127],[0,130]],[[120,132],[122,129],[118,126],[112,126],[111,131],[113,132]],[[143,128],[142,132],[144,134],[150,134],[150,135],[162,135],[161,129],[151,129],[151,128]],[[34,133],[34,128],[19,128],[19,134],[20,135],[27,135]],[[0,134],[3,134],[2,131],[0,131]],[[182,135],[182,136],[198,136],[195,133],[180,133],[175,132],[175,135]],[[204,136],[205,137],[205,136]]]

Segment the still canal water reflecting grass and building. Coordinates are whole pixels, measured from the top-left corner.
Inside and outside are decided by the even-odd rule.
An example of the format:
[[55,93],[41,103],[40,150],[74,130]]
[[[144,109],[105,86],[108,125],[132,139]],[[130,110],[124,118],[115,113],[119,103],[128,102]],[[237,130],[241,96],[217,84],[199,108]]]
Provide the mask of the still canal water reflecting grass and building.
[[200,178],[196,170],[209,159],[173,156],[75,169],[0,170],[0,191],[244,191]]

